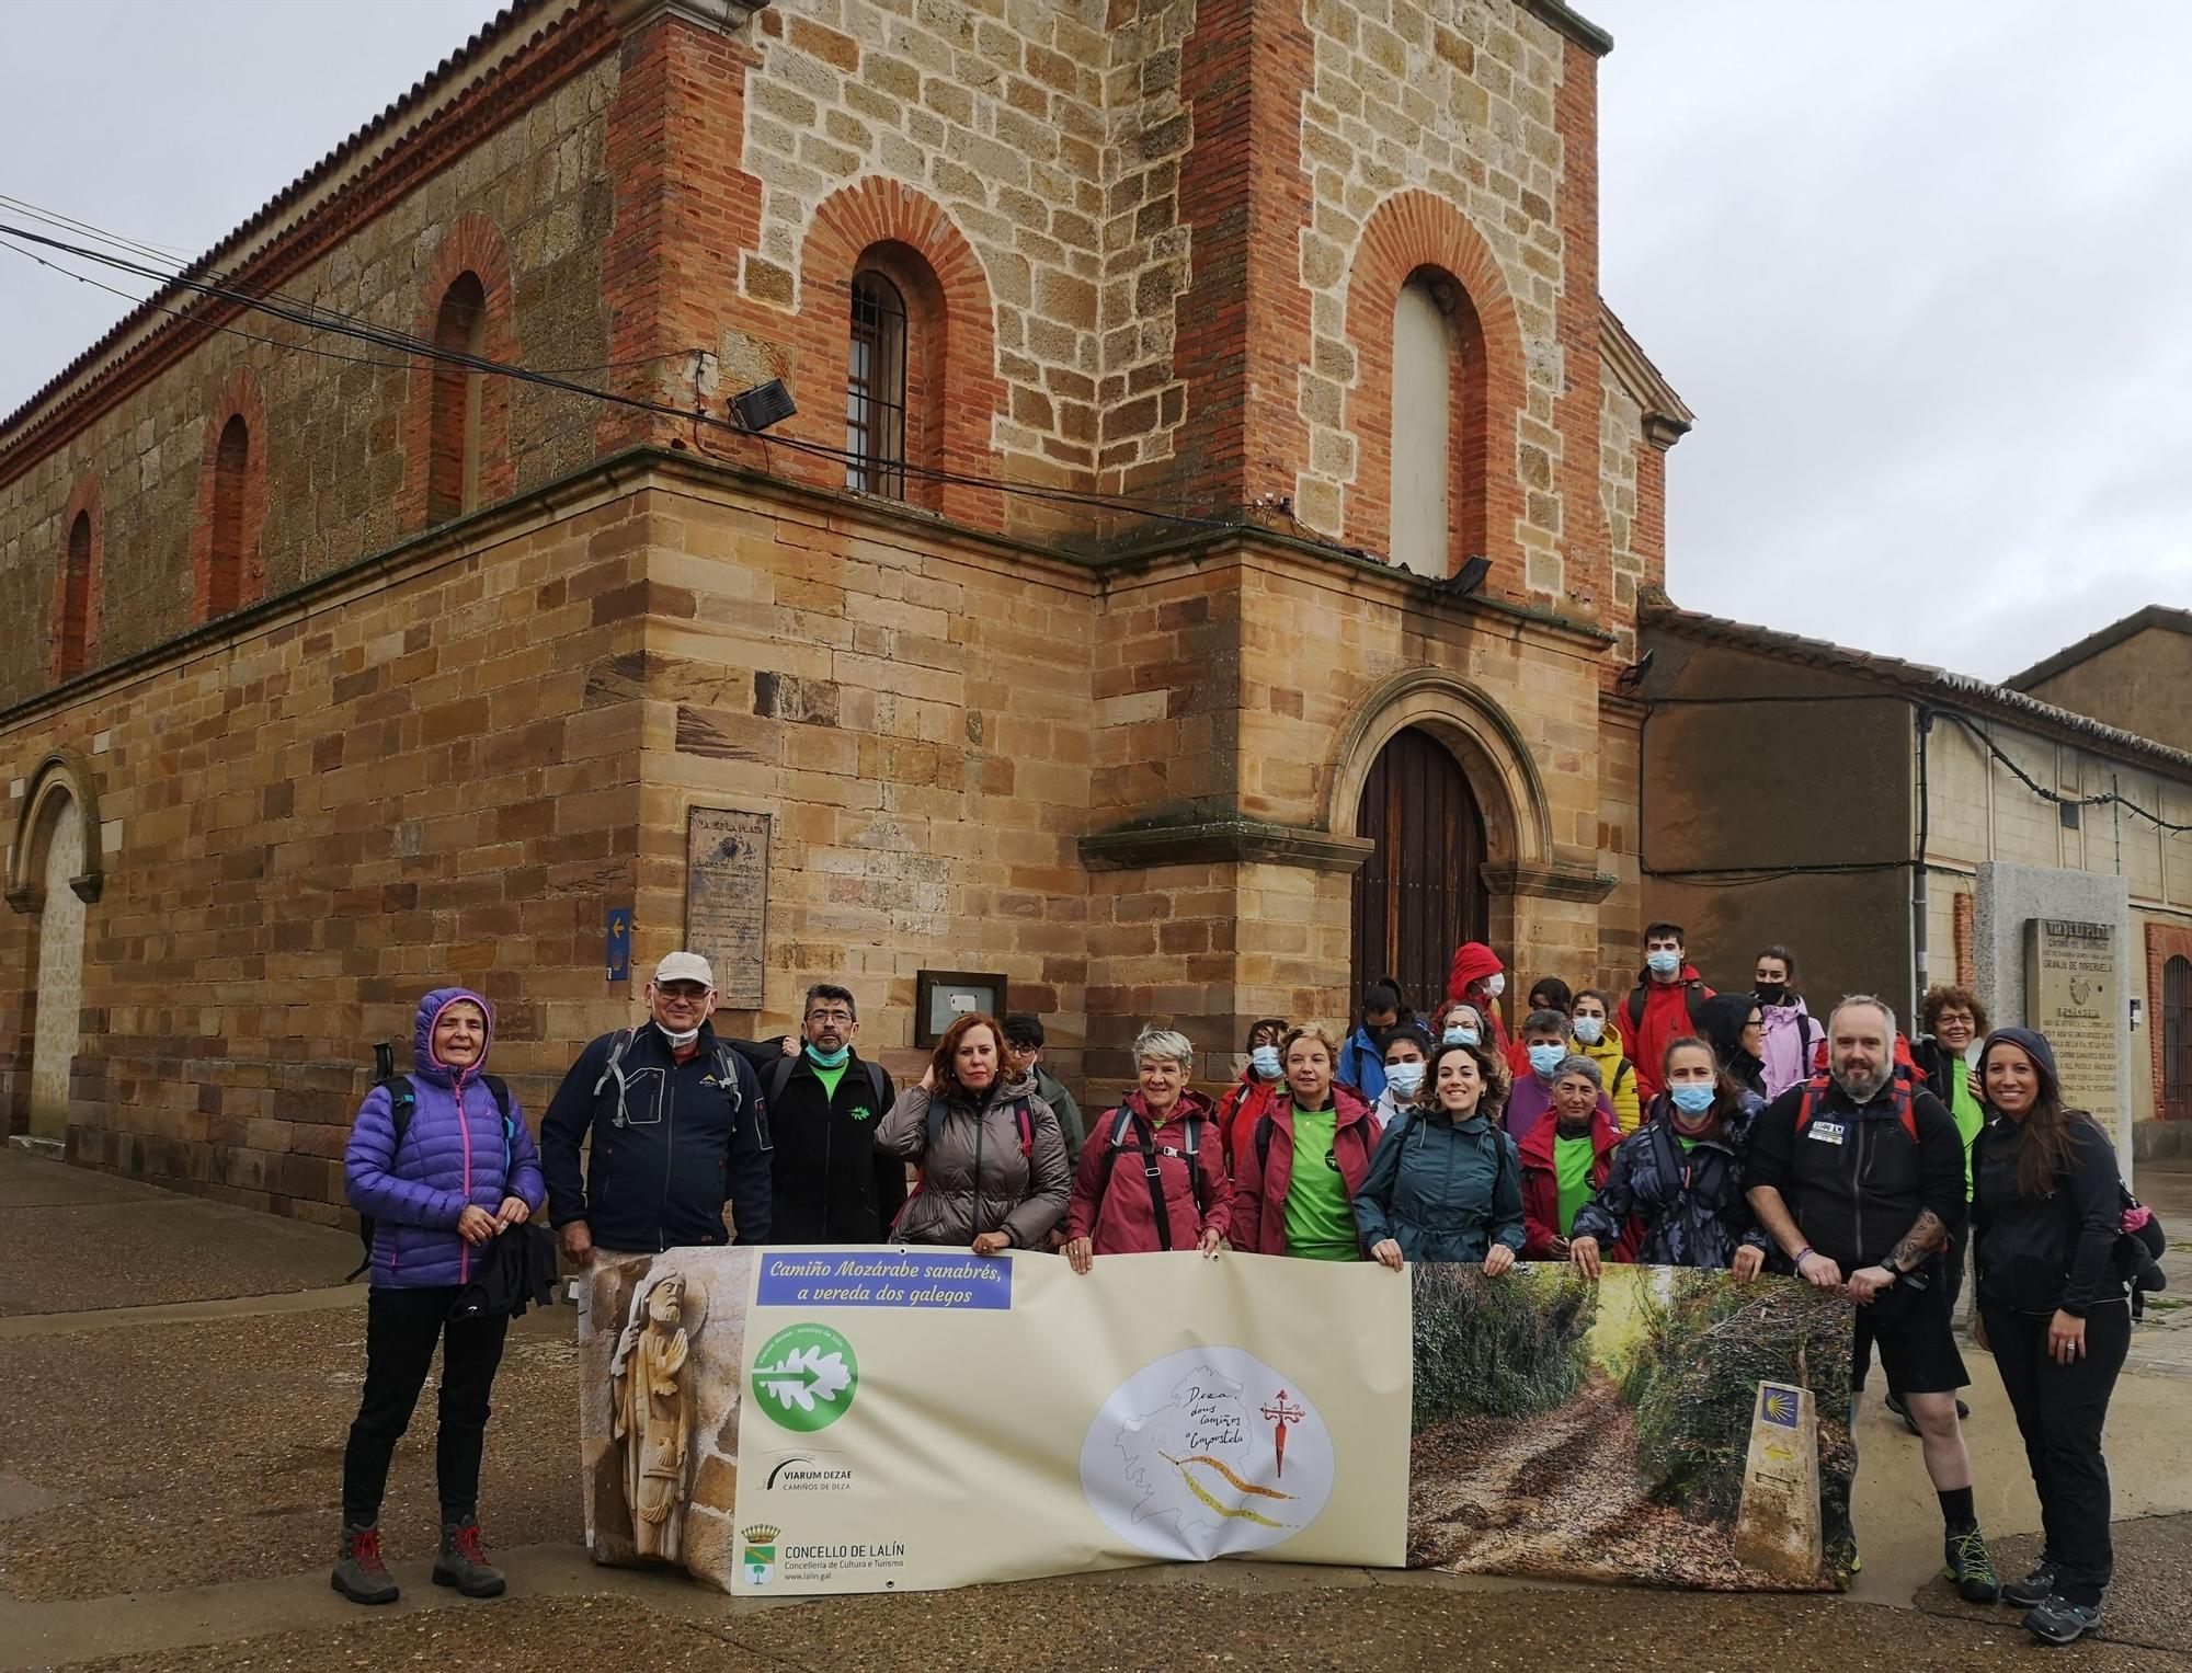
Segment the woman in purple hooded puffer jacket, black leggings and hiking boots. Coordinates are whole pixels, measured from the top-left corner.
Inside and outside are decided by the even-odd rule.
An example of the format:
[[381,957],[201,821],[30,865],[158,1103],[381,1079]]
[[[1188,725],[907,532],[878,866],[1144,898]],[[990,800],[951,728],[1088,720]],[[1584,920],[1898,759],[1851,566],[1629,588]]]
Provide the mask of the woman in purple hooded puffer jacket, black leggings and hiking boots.
[[[441,1360],[441,1557],[434,1583],[465,1596],[495,1596],[500,1570],[480,1546],[480,1450],[487,1395],[502,1364],[506,1316],[452,1318],[449,1307],[487,1242],[541,1204],[539,1152],[515,1099],[489,1077],[493,1012],[463,988],[419,1001],[408,1119],[388,1086],[357,1110],[342,1182],[351,1207],[370,1215],[373,1290],[366,1299],[366,1393],[342,1452],[342,1557],[333,1588],[353,1603],[392,1603],[397,1583],[381,1564],[379,1515],[388,1461],[412,1406]],[[399,1132],[401,1128],[401,1132]]]

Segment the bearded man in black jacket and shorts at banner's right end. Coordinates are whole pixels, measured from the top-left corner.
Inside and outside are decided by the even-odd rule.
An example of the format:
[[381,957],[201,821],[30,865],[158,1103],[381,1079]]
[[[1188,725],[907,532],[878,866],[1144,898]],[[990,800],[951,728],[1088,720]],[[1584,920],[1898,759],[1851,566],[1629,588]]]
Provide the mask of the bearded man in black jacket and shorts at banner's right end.
[[1940,1099],[1896,1073],[1894,1045],[1887,1005],[1843,999],[1826,1018],[1830,1077],[1791,1086],[1758,1117],[1745,1185],[1795,1274],[1857,1303],[1854,1364],[1879,1347],[1887,1386],[1925,1439],[1946,1526],[1944,1572],[1971,1603],[1993,1603],[2001,1585],[1955,1417],[1955,1391],[1971,1377],[1940,1264],[1964,1224],[1964,1141]]

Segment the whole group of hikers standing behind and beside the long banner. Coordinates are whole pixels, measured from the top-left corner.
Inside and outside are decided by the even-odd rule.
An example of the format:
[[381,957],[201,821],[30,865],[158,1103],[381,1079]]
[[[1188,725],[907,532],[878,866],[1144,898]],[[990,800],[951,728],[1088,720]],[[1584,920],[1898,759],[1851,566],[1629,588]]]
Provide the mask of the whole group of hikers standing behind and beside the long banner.
[[[1221,1097],[1197,1047],[1151,1025],[1133,1086],[1092,1121],[1043,1066],[1028,1014],[967,1014],[916,1084],[855,1049],[850,990],[820,981],[798,1034],[728,1040],[715,977],[673,953],[649,1018],[592,1040],[539,1145],[484,1073],[493,1009],[436,990],[416,1066],[364,1099],[344,1178],[373,1222],[366,1388],[344,1454],[333,1585],[397,1596],[379,1555],[390,1454],[443,1342],[432,1577],[502,1590],[478,1531],[489,1391],[506,1314],[458,1307],[495,1242],[546,1211],[576,1266],[697,1244],[936,1244],[978,1255],[1223,1250],[1326,1261],[1517,1261],[1793,1274],[1846,1294],[1854,1388],[1879,1351],[1894,1412],[1922,1439],[1944,1572],[1968,1601],[2025,1609],[2047,1642],[2098,1623],[2111,1579],[2100,1437],[2131,1336],[2115,1152],[2065,1108],[2047,1040],[1988,1031],[1960,985],[1920,1034],[1857,994],[1813,1016],[1797,961],[1769,946],[1754,985],[1712,992],[1677,924],[1651,924],[1626,994],[1528,990],[1464,944],[1436,1007],[1374,981],[1344,1038],[1263,1018]],[[728,1209],[728,1222],[726,1222]],[[2045,1548],[2010,1583],[1973,1509],[1953,1307],[1966,1255],[1973,1340],[2001,1373],[2039,1489]]]

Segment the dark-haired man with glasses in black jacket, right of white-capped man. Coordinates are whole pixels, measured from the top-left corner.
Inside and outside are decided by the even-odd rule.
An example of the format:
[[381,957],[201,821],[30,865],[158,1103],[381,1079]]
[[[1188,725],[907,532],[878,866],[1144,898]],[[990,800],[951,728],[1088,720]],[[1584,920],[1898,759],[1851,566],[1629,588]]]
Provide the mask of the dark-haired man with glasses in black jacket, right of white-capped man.
[[890,1075],[853,1051],[859,1007],[846,988],[807,990],[798,1058],[763,1069],[776,1141],[769,1239],[879,1244],[905,1204],[905,1163],[875,1147],[890,1110]]

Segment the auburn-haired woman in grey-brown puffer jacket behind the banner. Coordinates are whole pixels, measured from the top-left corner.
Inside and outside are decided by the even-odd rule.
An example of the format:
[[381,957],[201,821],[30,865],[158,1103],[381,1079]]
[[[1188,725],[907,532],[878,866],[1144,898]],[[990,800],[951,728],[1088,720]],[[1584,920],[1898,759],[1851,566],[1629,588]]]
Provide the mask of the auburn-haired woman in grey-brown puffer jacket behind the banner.
[[877,1147],[921,1169],[892,1242],[969,1246],[975,1255],[1046,1248],[1065,1218],[1065,1134],[1032,1075],[1000,1080],[1002,1040],[991,1018],[958,1018],[921,1084],[899,1093],[883,1117]]

